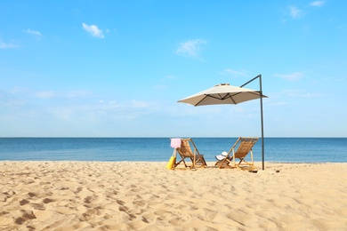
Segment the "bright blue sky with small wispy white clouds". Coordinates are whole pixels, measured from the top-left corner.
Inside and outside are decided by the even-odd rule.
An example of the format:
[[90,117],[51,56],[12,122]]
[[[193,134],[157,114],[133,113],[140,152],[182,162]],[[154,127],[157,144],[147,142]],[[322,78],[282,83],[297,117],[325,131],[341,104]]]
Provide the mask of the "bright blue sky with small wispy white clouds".
[[[347,137],[347,2],[2,1],[0,137]],[[258,82],[247,88],[259,90]]]

